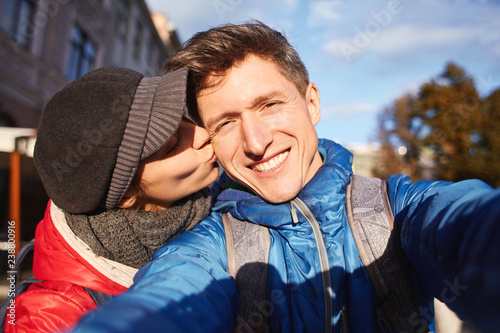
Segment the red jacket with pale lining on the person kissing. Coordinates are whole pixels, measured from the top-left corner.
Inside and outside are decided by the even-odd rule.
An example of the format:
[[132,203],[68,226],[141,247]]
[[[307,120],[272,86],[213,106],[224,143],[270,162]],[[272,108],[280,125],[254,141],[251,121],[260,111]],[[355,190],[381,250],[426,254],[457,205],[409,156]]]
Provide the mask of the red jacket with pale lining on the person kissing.
[[137,272],[94,254],[51,201],[36,229],[33,262],[33,274],[42,282],[16,298],[15,325],[7,316],[5,332],[68,330],[96,307],[84,287],[118,295],[130,287]]

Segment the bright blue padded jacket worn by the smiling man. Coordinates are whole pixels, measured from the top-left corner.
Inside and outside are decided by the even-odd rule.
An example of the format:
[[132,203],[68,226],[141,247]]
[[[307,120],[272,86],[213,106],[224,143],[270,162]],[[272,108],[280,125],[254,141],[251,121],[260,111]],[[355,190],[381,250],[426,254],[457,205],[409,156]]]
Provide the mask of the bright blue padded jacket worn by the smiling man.
[[[332,332],[341,332],[344,322],[348,332],[380,332],[376,295],[345,211],[352,155],[326,140],[320,140],[319,151],[323,166],[292,200],[313,217],[297,210],[294,223],[290,202],[269,204],[226,189],[208,218],[158,250],[128,292],[88,315],[75,332],[231,332],[237,293],[227,273],[221,222],[226,211],[269,227],[266,290],[272,331],[324,332],[330,313]],[[496,328],[499,190],[480,181],[412,183],[398,175],[388,179],[388,193],[424,321],[432,322],[437,297],[462,317]],[[324,247],[315,239],[316,227]],[[330,268],[331,303],[325,302],[322,264]]]

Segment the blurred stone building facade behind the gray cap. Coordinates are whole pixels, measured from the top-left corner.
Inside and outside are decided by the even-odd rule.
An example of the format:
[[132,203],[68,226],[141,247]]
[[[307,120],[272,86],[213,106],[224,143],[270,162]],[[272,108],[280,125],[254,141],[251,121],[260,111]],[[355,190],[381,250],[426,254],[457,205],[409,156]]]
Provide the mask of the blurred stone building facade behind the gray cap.
[[36,128],[43,105],[94,68],[158,74],[178,46],[162,34],[144,0],[0,0],[0,126]]

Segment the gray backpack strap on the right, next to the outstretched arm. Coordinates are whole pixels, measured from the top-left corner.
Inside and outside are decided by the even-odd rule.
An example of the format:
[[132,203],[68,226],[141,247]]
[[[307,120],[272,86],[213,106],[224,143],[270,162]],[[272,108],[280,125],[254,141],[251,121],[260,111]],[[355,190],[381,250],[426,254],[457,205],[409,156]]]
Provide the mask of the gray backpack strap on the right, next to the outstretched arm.
[[346,208],[359,256],[380,301],[377,314],[383,331],[391,332],[392,327],[396,332],[430,332],[420,319],[385,181],[354,175]]

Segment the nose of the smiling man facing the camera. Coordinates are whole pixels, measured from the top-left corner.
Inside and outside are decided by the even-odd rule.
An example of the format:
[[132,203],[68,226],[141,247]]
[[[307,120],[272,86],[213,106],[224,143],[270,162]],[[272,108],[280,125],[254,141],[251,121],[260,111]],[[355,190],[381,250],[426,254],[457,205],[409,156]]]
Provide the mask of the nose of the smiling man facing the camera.
[[255,114],[245,115],[241,119],[243,136],[242,146],[247,155],[262,156],[267,146],[273,141],[273,134],[264,120]]

